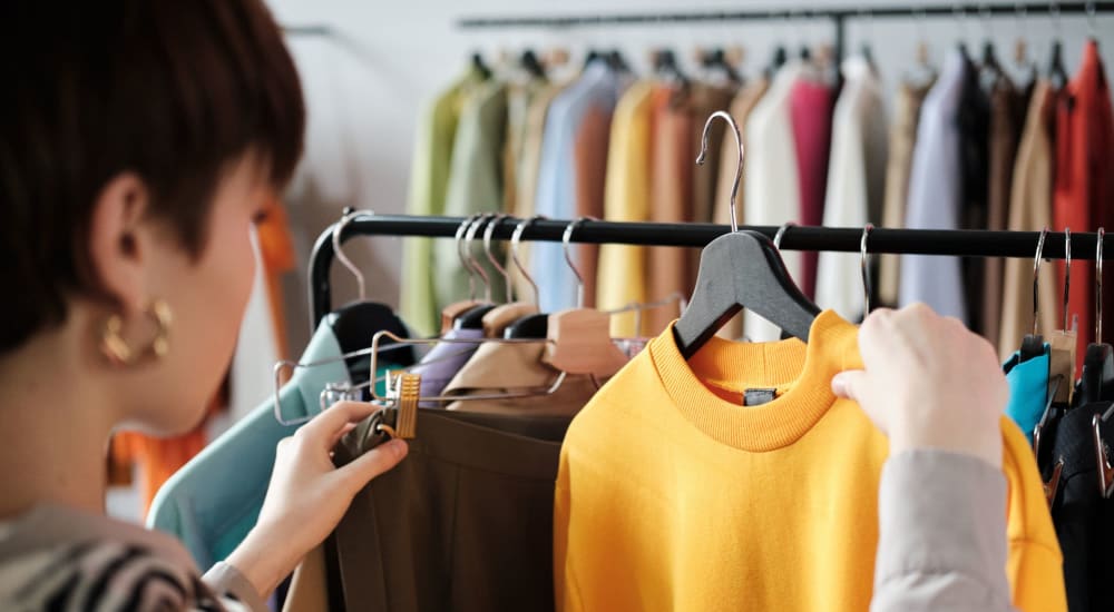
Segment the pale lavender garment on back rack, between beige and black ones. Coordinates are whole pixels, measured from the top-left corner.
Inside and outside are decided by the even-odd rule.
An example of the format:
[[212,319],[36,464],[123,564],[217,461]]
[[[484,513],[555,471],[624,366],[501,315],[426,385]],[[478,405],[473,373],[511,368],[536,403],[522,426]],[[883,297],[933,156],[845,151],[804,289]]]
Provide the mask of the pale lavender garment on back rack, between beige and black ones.
[[[959,229],[962,184],[956,116],[967,70],[962,55],[952,50],[921,107],[906,209],[909,229]],[[898,304],[924,302],[966,324],[960,264],[958,257],[902,256]]]

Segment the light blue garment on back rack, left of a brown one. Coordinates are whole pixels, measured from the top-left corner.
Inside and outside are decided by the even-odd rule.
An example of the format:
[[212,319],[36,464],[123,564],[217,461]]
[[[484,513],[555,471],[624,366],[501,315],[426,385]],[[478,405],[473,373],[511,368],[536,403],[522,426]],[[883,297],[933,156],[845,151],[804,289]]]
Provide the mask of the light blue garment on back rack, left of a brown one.
[[[578,81],[554,98],[541,137],[535,214],[550,219],[576,217],[577,131],[593,105],[613,113],[620,89],[615,72],[603,60],[596,60]],[[575,260],[575,249],[573,255]],[[541,312],[555,313],[577,305],[576,277],[565,263],[559,243],[530,245],[530,275],[538,283]]]

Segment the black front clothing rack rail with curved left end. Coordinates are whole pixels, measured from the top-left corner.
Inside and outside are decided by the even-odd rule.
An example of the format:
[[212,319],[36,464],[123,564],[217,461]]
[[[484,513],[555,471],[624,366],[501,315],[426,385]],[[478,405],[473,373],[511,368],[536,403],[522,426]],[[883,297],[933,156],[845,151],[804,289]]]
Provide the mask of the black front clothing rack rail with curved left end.
[[[424,217],[410,215],[356,215],[344,225],[340,243],[355,236],[424,236],[453,238],[467,218]],[[504,217],[492,221],[492,237],[509,240],[521,219]],[[571,221],[538,219],[522,231],[527,241],[559,243]],[[336,253],[333,250],[333,231],[336,225],[325,228],[310,257],[310,313],[316,325],[332,309],[332,283],[329,273]],[[758,231],[773,239],[775,226],[740,226],[739,229]],[[585,220],[570,238],[580,244],[619,244],[642,246],[704,247],[713,239],[727,234],[726,225],[714,224],[655,224]],[[786,250],[829,250],[860,253],[862,228],[790,226],[782,234],[781,248]],[[1039,231],[990,231],[965,229],[871,229],[867,237],[867,253],[899,255],[941,255],[950,257],[1018,257],[1036,256]],[[1071,236],[1072,260],[1094,260],[1098,245],[1097,234]],[[1112,257],[1114,246],[1106,247],[1110,237],[1103,238],[1103,260]],[[1064,259],[1067,240],[1063,233],[1051,231],[1045,237],[1042,255],[1045,259]]]

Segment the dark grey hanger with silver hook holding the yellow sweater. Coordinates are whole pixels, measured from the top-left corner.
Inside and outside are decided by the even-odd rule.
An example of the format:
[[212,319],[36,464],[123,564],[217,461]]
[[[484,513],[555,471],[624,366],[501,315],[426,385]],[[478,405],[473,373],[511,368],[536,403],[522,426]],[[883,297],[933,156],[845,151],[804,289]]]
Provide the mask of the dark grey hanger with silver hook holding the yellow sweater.
[[696,164],[704,164],[709,128],[717,117],[727,121],[739,145],[739,165],[731,189],[731,234],[712,240],[701,253],[692,300],[674,325],[677,347],[686,359],[743,308],[802,340],[809,339],[812,322],[820,314],[820,308],[793,283],[770,238],[756,231],[739,231],[735,199],[744,149],[739,126],[726,112],[716,111],[704,124]]

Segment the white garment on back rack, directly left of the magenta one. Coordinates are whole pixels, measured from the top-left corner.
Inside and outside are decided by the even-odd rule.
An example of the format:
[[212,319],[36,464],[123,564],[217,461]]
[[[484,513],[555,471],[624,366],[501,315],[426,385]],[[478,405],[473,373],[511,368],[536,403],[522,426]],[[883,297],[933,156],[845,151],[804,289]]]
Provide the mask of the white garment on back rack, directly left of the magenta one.
[[[747,225],[780,226],[786,221],[800,221],[801,193],[789,98],[803,71],[801,62],[795,60],[778,70],[770,90],[746,120],[743,218]],[[801,254],[786,250],[781,256],[790,275],[794,279],[801,278]],[[743,319],[743,329],[746,337],[754,342],[771,342],[781,337],[781,330],[775,325],[750,310]]]

